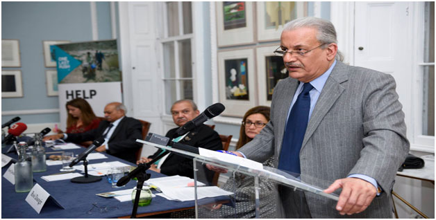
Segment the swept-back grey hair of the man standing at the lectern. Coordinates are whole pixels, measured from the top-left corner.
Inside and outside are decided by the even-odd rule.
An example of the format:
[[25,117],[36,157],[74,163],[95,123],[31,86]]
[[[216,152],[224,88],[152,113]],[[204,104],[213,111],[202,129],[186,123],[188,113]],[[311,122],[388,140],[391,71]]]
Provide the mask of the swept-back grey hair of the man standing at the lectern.
[[[317,40],[321,44],[337,44],[335,26],[333,26],[333,24],[326,19],[320,19],[317,17],[302,17],[287,22],[287,24],[285,24],[285,26],[283,27],[283,31],[289,31],[296,28],[304,27],[315,28],[318,31]],[[326,48],[326,46],[322,46],[322,48]],[[342,61],[344,59],[344,56],[341,52],[339,52],[339,50],[336,53],[335,59],[339,61]]]

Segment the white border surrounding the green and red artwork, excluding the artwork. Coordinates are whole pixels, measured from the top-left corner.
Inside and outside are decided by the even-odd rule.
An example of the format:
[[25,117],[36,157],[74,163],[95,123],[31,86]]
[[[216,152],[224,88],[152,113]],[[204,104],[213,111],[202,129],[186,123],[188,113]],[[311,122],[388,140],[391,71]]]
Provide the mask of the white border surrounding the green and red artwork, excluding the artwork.
[[234,28],[231,30],[224,30],[224,17],[223,2],[216,2],[217,12],[217,45],[221,46],[235,46],[241,44],[251,44],[254,42],[253,31],[253,2],[245,1],[246,12],[246,27]]

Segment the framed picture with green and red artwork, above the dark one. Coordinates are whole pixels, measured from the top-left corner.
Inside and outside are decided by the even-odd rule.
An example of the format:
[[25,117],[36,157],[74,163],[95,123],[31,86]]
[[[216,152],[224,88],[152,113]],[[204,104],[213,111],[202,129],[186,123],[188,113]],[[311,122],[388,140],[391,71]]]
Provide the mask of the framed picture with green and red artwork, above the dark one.
[[246,1],[216,2],[217,44],[233,46],[254,42],[253,3]]

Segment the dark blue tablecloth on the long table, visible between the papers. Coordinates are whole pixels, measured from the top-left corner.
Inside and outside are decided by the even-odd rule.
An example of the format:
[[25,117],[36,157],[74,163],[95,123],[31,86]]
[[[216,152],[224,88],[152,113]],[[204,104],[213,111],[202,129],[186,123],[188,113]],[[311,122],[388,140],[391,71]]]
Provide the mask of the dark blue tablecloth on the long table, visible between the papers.
[[[1,152],[4,154],[8,147],[2,148]],[[46,148],[47,152],[52,152],[51,148]],[[80,154],[83,152],[84,148],[81,149],[71,149],[65,151],[74,152],[74,154]],[[15,153],[6,154],[12,158],[17,158]],[[121,160],[114,156],[105,154],[108,158],[97,159],[89,161],[92,163],[101,163],[109,161],[121,161],[129,165],[134,165],[128,161]],[[12,163],[11,163],[12,164]],[[10,165],[6,165],[1,169],[1,175],[6,172]],[[31,205],[25,201],[28,192],[17,193],[15,192],[15,186],[12,185],[6,178],[1,178],[1,217],[2,218],[47,218],[47,219],[64,219],[64,218],[116,218],[116,217],[130,217],[133,203],[131,201],[119,202],[115,198],[104,198],[97,196],[95,194],[101,192],[110,192],[118,190],[112,188],[111,184],[106,181],[106,177],[96,183],[72,183],[69,180],[65,181],[44,181],[41,176],[46,176],[49,174],[55,174],[60,172],[59,169],[61,165],[47,166],[46,172],[33,173],[34,185],[38,183],[44,190],[49,192],[56,201],[58,201],[64,208],[60,208],[56,203],[49,199],[47,203],[42,208],[40,214],[37,214]],[[148,171],[151,174],[151,178],[157,178],[165,176],[156,172]],[[123,190],[126,188],[132,188],[136,186],[136,181],[130,181],[125,187],[119,189]],[[157,192],[153,190],[153,194]],[[207,198],[199,200],[199,203],[223,203],[227,201],[226,196],[219,196],[217,198]],[[108,207],[108,211],[103,210],[103,212],[92,212],[92,214],[87,214],[93,205],[92,203],[97,203],[101,208]],[[186,210],[194,208],[194,201],[169,201],[162,198],[161,196],[156,196],[151,201],[151,204],[144,207],[138,207],[137,217],[144,217],[153,214],[162,214],[167,212],[174,212],[177,210]],[[94,208],[95,210],[95,208]],[[94,211],[93,210],[93,211]]]

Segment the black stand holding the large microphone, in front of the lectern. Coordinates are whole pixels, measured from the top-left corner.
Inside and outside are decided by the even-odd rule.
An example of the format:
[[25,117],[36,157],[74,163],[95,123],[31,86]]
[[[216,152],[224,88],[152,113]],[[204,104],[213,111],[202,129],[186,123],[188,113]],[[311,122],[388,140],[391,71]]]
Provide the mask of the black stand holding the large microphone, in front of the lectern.
[[156,158],[153,158],[153,160],[151,160],[149,163],[140,163],[136,169],[133,169],[132,172],[128,173],[127,176],[120,178],[117,182],[117,186],[121,186],[126,185],[131,178],[137,178],[135,202],[133,203],[131,219],[136,219],[137,206],[140,203],[142,186],[144,185],[144,182],[147,181],[151,176],[151,174],[146,173],[146,170],[149,169],[153,163],[167,154],[169,154],[169,151],[163,152],[159,156],[156,156]]

